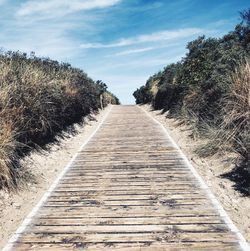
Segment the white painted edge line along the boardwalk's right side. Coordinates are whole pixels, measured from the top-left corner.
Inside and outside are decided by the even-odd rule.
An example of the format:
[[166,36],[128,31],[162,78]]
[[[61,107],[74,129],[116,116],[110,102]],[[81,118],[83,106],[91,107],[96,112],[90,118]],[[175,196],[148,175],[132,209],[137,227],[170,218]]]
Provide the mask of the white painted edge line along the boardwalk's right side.
[[201,188],[203,188],[208,197],[210,198],[210,200],[212,201],[214,207],[217,209],[217,211],[219,212],[220,216],[224,219],[225,223],[227,224],[228,228],[234,232],[236,234],[236,236],[238,237],[239,240],[239,244],[241,246],[241,248],[244,251],[250,251],[250,246],[248,244],[248,242],[246,241],[246,239],[244,238],[244,236],[240,233],[239,229],[234,225],[234,223],[232,222],[232,220],[230,219],[230,217],[228,216],[227,212],[224,210],[224,208],[222,207],[222,205],[220,204],[220,202],[216,199],[216,197],[214,196],[214,194],[211,192],[210,188],[207,186],[207,184],[205,183],[205,181],[201,178],[201,176],[198,174],[198,172],[196,171],[196,169],[193,167],[193,165],[190,163],[190,161],[188,160],[188,158],[186,157],[186,155],[183,153],[183,151],[180,149],[180,147],[176,144],[176,142],[173,140],[173,138],[170,136],[167,128],[161,123],[159,122],[157,119],[155,119],[148,111],[146,111],[145,109],[143,109],[142,107],[138,106],[142,111],[144,111],[146,113],[146,115],[151,118],[152,120],[154,120],[158,125],[161,126],[161,128],[163,129],[163,131],[165,132],[167,138],[169,138],[169,140],[171,141],[171,143],[173,144],[173,146],[179,151],[180,155],[182,156],[184,162],[187,164],[188,168],[190,169],[190,171],[193,173],[193,175],[195,176],[195,178],[199,181]]

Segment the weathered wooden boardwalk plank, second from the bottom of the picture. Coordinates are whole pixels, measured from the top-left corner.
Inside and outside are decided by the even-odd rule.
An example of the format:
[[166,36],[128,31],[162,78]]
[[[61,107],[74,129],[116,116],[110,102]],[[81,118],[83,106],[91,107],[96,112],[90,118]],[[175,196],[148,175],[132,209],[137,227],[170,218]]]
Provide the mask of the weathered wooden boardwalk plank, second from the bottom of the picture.
[[[177,239],[178,238],[178,239]],[[25,233],[20,239],[19,242],[24,243],[97,243],[97,242],[156,242],[157,240],[162,242],[169,243],[209,243],[209,242],[227,242],[227,243],[236,243],[234,240],[233,234],[225,234],[225,233],[178,233],[175,231],[169,232],[160,232],[160,233]]]

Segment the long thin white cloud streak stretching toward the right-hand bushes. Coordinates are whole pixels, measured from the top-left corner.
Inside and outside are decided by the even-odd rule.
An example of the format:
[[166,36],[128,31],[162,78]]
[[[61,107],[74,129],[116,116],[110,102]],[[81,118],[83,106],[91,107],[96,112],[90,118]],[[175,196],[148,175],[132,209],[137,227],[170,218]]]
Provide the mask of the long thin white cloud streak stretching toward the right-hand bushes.
[[185,28],[178,30],[164,30],[159,32],[154,32],[151,34],[139,35],[131,38],[122,38],[114,43],[103,44],[103,43],[85,43],[81,44],[80,47],[84,49],[91,48],[112,48],[112,47],[122,47],[129,46],[134,44],[141,44],[147,42],[158,42],[158,41],[166,41],[173,40],[178,38],[189,37],[197,34],[201,34],[204,32],[199,28]]

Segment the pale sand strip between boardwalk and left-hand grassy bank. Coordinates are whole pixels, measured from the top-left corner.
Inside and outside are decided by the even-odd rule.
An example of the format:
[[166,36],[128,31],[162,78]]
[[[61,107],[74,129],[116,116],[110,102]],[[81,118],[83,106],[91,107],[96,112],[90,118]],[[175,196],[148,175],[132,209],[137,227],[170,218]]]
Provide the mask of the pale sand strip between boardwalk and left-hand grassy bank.
[[33,182],[28,183],[18,194],[0,191],[0,249],[110,108],[95,115],[96,121],[86,119],[84,126],[77,126],[78,133],[75,136],[68,135],[60,139],[60,143],[52,145],[49,152],[32,153],[30,157],[25,158],[23,164],[27,173],[31,173]]

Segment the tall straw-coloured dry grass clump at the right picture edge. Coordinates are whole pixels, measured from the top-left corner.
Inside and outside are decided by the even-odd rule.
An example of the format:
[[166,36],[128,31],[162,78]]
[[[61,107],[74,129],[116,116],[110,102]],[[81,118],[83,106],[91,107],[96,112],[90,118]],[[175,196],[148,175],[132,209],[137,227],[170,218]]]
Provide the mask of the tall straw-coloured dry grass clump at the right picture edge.
[[232,89],[224,99],[223,125],[226,142],[250,164],[250,62],[239,67],[232,76]]

